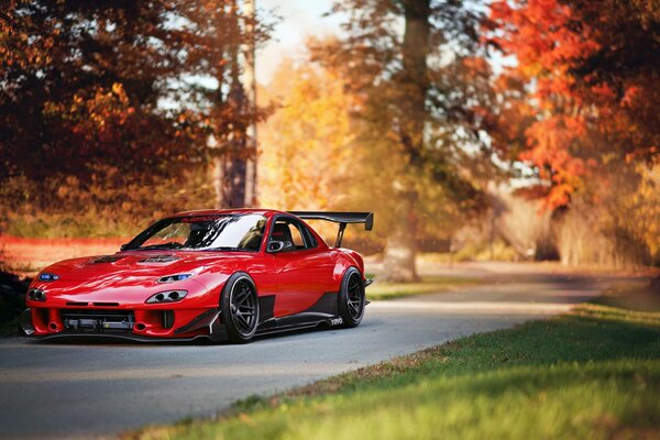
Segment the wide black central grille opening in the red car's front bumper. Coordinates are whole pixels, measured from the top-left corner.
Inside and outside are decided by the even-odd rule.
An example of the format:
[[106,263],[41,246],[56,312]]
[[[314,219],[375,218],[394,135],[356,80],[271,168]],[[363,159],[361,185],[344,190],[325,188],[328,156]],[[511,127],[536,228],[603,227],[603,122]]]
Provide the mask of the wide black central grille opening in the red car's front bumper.
[[73,332],[114,333],[133,330],[135,316],[132,310],[62,310],[64,328]]

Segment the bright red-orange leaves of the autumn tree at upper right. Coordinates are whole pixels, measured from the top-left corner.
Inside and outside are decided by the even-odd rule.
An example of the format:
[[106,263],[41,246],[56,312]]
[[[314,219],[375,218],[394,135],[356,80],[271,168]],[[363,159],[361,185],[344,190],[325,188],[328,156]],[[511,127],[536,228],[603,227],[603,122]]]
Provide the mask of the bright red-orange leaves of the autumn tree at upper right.
[[[526,123],[518,158],[551,184],[550,207],[568,204],[572,193],[602,178],[598,170],[617,157],[631,162],[617,143],[625,152],[642,139],[634,140],[638,124],[618,110],[639,102],[639,87],[629,85],[620,98],[613,84],[579,73],[597,53],[610,50],[602,43],[607,30],[600,19],[608,13],[597,2],[569,0],[498,0],[491,9],[490,41],[516,57],[496,82],[505,99],[503,114],[514,116],[501,116],[505,129],[499,127],[495,139],[520,133],[519,124]],[[512,95],[512,89],[524,92]]]

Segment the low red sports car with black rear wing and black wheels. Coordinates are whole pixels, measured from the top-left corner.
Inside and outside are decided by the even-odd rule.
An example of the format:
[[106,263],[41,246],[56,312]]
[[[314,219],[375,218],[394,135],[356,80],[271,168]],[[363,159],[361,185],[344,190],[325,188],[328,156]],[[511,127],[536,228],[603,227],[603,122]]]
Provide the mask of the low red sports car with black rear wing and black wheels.
[[[301,219],[339,223],[330,248]],[[255,334],[355,327],[367,304],[362,256],[341,249],[348,223],[372,212],[240,209],[183,212],[114,255],[41,272],[20,324],[28,336],[248,342]]]

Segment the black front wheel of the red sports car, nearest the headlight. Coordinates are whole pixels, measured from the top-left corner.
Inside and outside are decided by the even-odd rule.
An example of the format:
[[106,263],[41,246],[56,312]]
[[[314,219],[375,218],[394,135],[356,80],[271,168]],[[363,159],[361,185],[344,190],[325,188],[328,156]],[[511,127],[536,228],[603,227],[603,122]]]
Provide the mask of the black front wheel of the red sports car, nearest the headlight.
[[239,272],[229,277],[220,297],[220,310],[229,341],[250,342],[258,324],[256,287],[250,275]]

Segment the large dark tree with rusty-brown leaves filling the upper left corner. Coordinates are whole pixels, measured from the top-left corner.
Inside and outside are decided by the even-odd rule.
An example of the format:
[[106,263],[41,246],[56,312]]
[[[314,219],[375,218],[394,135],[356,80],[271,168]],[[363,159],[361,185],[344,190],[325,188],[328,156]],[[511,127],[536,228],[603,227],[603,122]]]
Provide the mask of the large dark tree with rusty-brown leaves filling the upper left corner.
[[[82,190],[97,179],[163,185],[210,155],[244,162],[237,142],[258,112],[240,96],[238,58],[270,28],[241,16],[239,4],[7,2],[0,182],[24,176],[45,188],[74,176]],[[209,135],[218,148],[209,151]]]

